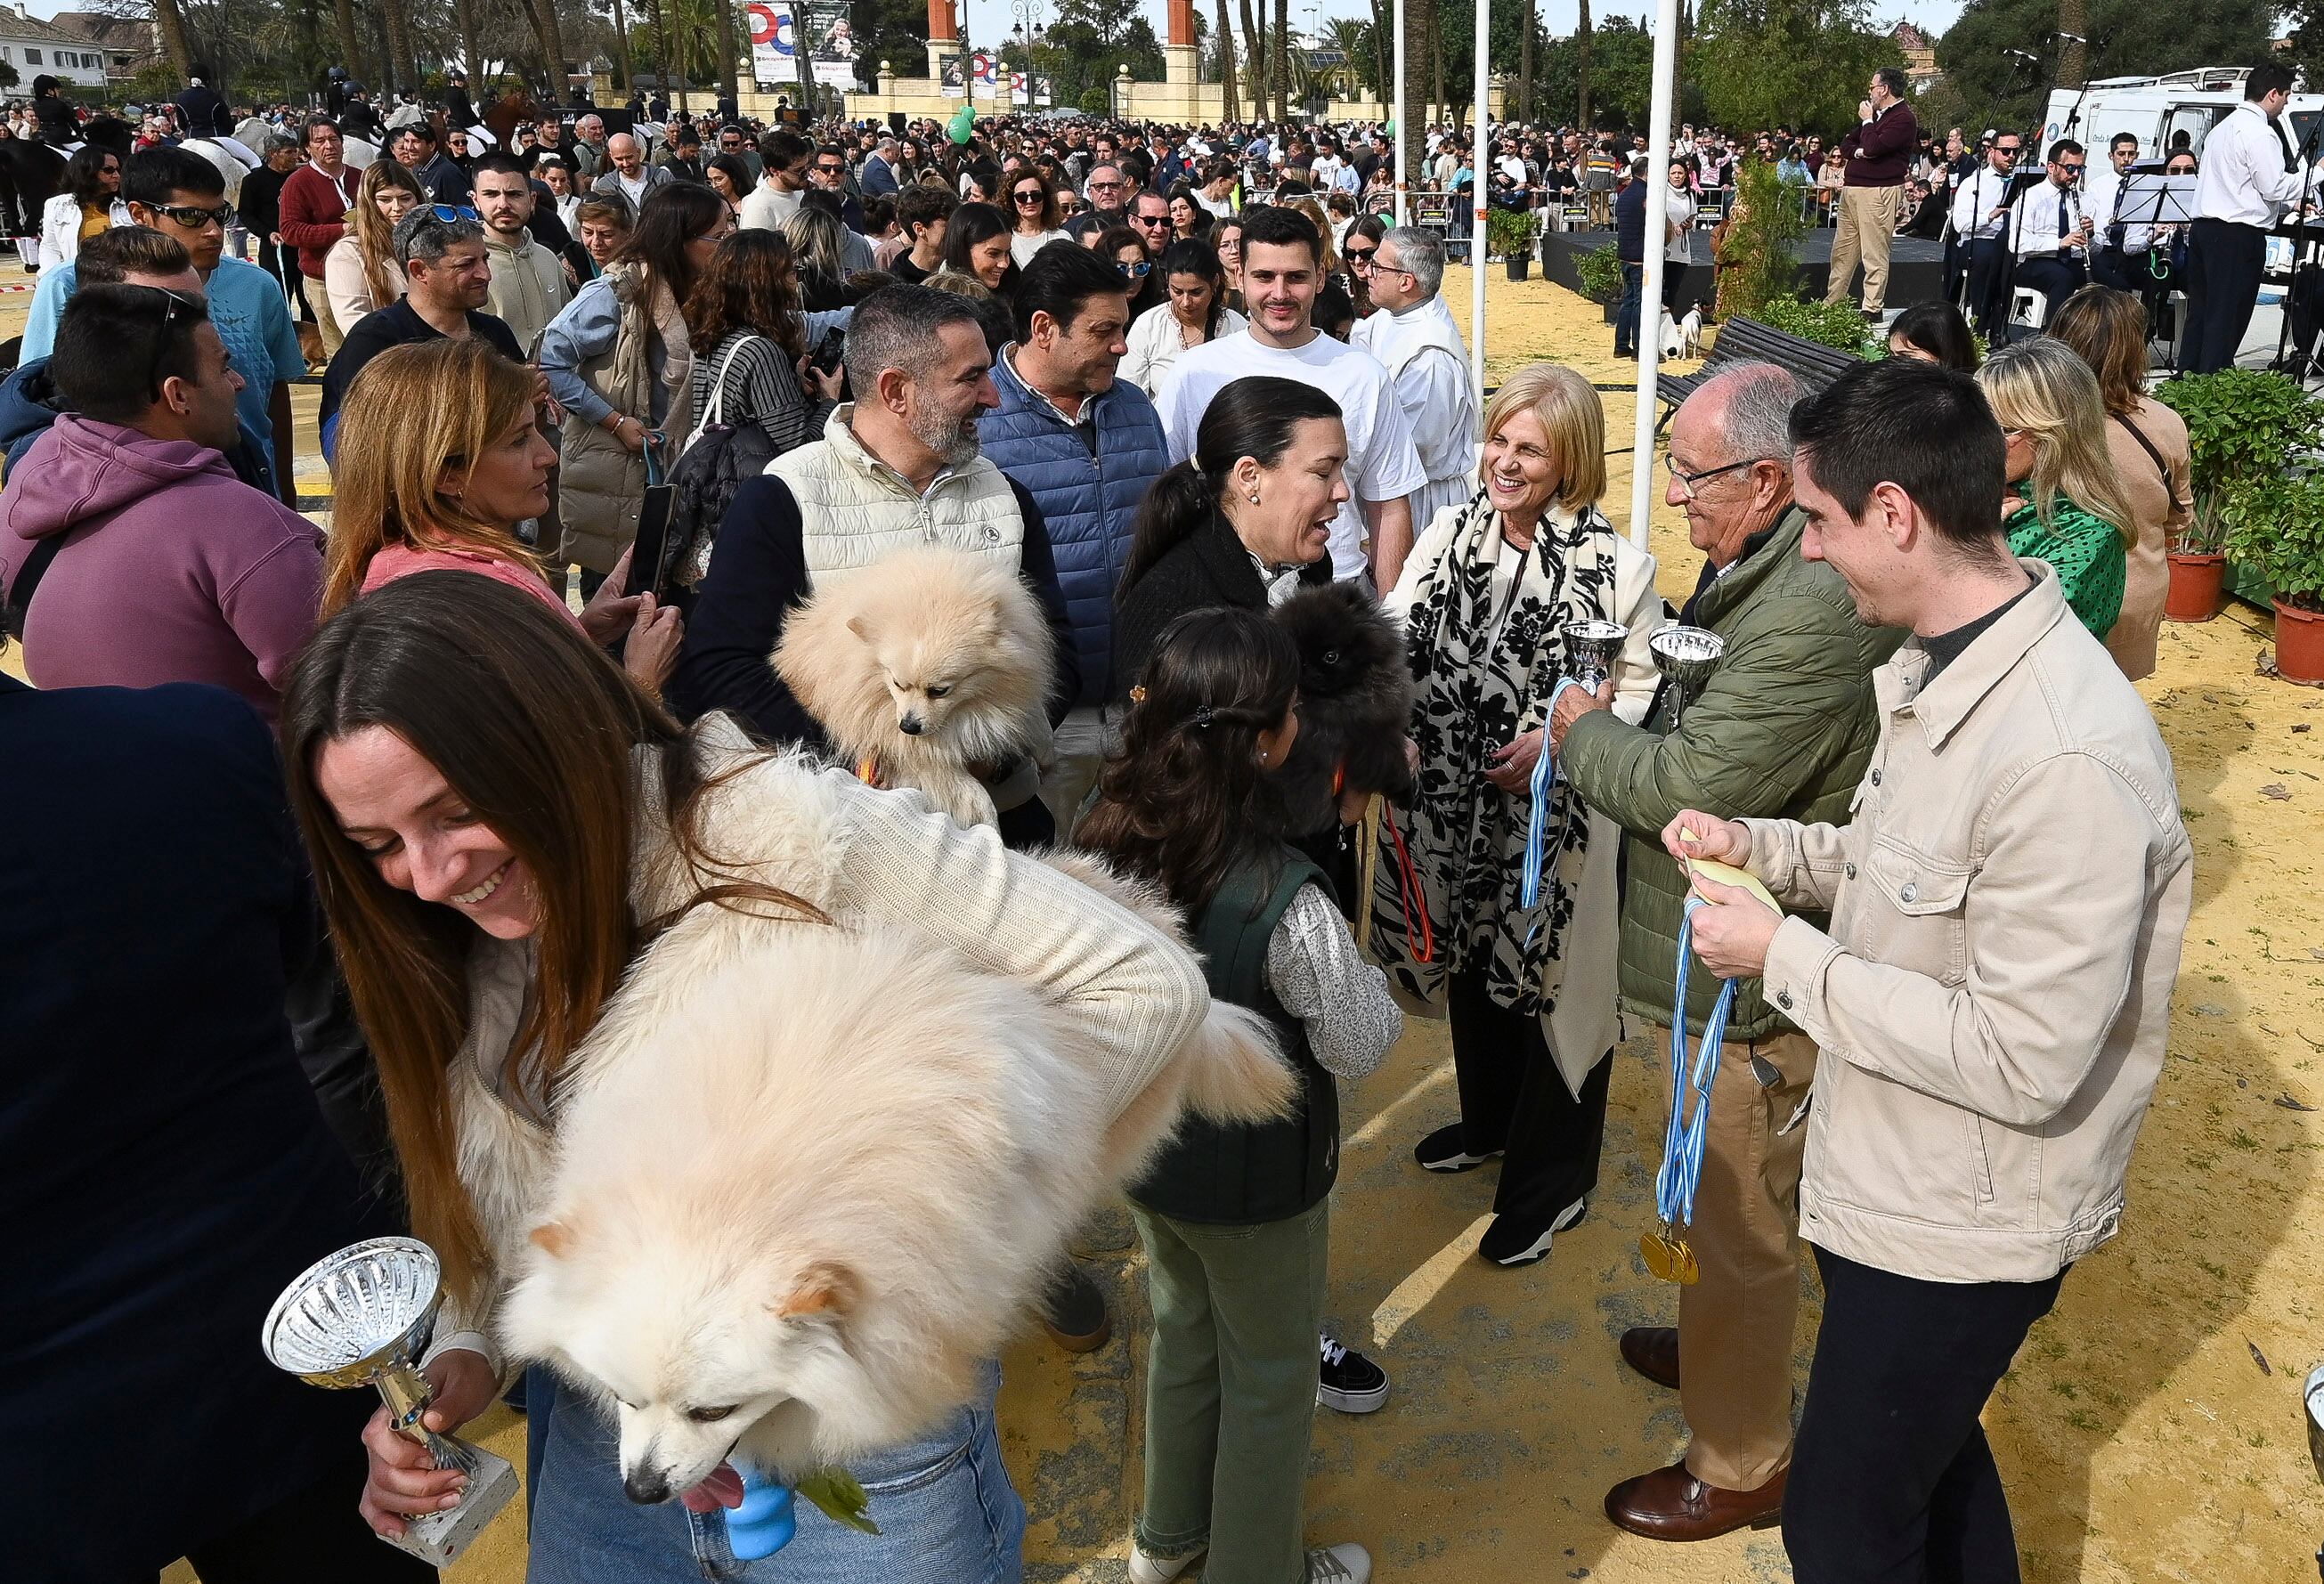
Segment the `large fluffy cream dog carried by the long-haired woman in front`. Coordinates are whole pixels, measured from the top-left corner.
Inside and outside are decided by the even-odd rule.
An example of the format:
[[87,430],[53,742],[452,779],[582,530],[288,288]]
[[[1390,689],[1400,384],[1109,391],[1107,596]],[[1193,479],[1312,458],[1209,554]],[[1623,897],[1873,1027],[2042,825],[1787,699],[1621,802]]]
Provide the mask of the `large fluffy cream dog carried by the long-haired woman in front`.
[[[1183,938],[1155,892],[1050,862]],[[1039,987],[909,929],[723,908],[653,943],[576,1061],[500,1331],[611,1401],[641,1503],[925,1431],[1183,1108],[1260,1122],[1297,1092],[1267,1024],[1213,1001],[1113,1115]]]

